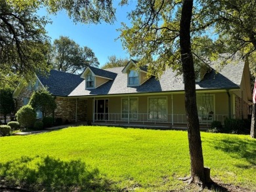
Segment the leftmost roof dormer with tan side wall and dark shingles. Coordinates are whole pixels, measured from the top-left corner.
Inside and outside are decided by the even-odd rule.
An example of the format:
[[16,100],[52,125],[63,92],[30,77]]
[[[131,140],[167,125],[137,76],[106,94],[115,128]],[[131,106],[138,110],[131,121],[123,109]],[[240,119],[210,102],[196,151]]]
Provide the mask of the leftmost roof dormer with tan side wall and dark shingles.
[[88,66],[81,74],[85,79],[85,89],[94,89],[116,78],[116,73]]

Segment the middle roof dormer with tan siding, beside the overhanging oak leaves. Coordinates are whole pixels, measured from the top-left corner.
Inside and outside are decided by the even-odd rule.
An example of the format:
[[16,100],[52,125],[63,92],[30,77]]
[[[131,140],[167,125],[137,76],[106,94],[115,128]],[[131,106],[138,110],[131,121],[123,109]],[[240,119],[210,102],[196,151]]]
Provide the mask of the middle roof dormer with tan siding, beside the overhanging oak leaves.
[[137,61],[130,60],[123,68],[122,73],[127,73],[127,86],[140,86],[148,80],[146,73],[148,67],[136,67]]

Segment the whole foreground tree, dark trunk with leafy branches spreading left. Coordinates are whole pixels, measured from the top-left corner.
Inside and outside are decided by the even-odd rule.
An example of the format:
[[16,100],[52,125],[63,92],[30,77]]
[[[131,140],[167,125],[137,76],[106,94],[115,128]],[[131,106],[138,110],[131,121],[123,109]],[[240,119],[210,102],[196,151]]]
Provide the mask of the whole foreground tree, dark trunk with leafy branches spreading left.
[[[194,39],[200,37],[200,33],[197,32],[200,29],[191,24],[192,8],[192,0],[185,0],[182,3],[181,1],[140,0],[137,8],[129,14],[132,27],[129,28],[123,24],[120,31],[124,47],[127,47],[131,56],[141,58],[138,66],[148,64],[148,71],[156,77],[159,77],[166,67],[172,67],[179,73],[183,73],[191,168],[191,176],[186,180],[204,187],[206,178],[196,107],[192,52],[192,47],[196,50],[196,46],[191,45],[190,37],[190,33]],[[192,26],[191,29],[190,26]]]

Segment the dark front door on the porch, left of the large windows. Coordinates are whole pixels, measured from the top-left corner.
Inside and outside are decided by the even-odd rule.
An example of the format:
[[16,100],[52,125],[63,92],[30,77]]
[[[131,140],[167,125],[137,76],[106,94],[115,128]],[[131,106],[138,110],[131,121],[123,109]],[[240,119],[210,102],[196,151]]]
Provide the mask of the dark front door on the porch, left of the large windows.
[[108,100],[95,100],[95,120],[108,120]]

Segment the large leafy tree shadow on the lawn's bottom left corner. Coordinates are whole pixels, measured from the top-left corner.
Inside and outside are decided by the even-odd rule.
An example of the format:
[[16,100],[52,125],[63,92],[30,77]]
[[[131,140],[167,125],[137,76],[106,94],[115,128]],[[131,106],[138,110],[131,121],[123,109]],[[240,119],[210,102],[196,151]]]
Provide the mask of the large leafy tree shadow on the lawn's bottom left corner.
[[52,157],[21,157],[0,163],[0,175],[10,187],[31,191],[108,191],[111,183],[96,168],[80,160],[61,161]]

